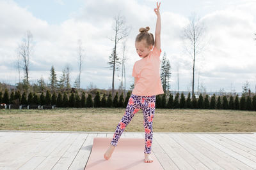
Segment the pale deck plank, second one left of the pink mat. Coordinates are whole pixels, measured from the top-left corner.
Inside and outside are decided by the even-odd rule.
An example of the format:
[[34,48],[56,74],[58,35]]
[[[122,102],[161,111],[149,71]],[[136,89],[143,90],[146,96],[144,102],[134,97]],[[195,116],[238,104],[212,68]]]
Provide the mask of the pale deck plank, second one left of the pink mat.
[[[98,134],[99,135],[99,134]],[[77,153],[83,146],[88,134],[79,134],[77,139],[72,143],[70,148],[60,157],[58,162],[52,167],[52,169],[68,169],[71,166],[73,160],[76,158]]]

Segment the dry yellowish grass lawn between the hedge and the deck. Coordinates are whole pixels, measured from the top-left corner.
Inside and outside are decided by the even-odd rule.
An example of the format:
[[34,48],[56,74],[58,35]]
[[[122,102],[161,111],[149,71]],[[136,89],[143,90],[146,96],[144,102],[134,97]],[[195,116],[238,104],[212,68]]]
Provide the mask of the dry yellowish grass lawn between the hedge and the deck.
[[[0,130],[114,132],[125,108],[0,110]],[[156,109],[154,132],[256,132],[256,111]],[[125,132],[145,132],[138,111]]]

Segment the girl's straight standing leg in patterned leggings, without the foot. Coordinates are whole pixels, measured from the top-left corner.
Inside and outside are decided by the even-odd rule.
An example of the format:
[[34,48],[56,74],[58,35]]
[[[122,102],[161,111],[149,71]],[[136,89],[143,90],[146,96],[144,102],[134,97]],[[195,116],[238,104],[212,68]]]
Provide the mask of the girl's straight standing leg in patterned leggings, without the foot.
[[156,106],[156,96],[147,96],[143,107],[144,127],[145,127],[145,150],[144,153],[151,153],[153,140],[153,118]]

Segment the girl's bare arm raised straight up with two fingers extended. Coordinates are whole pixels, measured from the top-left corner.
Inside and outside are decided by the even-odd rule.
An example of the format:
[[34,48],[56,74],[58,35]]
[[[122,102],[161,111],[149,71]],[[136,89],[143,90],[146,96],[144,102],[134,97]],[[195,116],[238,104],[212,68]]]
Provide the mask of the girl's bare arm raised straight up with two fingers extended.
[[161,49],[161,39],[160,39],[160,35],[161,35],[161,16],[160,16],[160,12],[159,12],[159,8],[160,8],[160,4],[158,5],[158,2],[156,3],[156,7],[154,9],[156,15],[157,15],[157,20],[156,20],[156,32],[155,32],[155,46],[157,48],[157,50]]

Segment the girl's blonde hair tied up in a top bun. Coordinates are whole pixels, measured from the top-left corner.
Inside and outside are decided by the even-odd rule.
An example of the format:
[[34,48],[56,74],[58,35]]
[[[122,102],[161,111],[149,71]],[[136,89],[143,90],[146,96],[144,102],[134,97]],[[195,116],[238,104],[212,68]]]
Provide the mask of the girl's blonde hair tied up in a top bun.
[[150,45],[153,46],[154,43],[155,43],[155,41],[154,41],[154,36],[153,36],[152,33],[148,33],[149,29],[150,29],[149,27],[146,27],[146,28],[141,27],[141,28],[139,29],[140,34],[138,34],[138,35],[136,36],[135,41],[136,41],[136,42],[140,42],[141,40],[145,40],[147,47],[149,47]]

